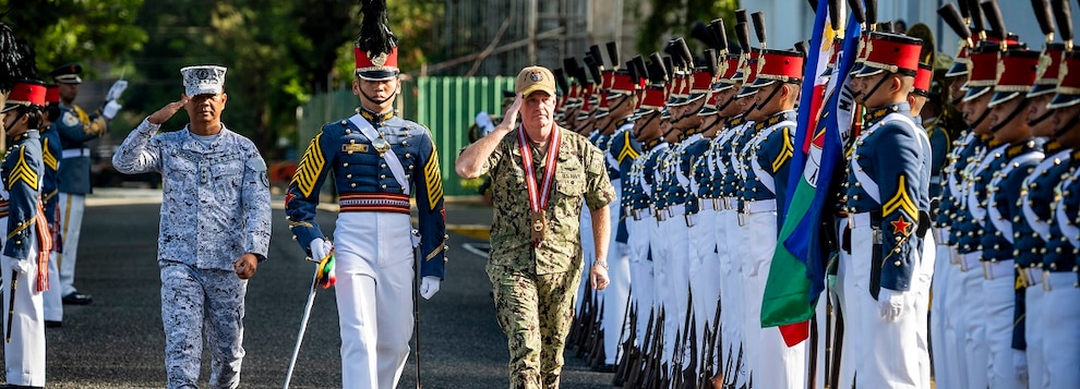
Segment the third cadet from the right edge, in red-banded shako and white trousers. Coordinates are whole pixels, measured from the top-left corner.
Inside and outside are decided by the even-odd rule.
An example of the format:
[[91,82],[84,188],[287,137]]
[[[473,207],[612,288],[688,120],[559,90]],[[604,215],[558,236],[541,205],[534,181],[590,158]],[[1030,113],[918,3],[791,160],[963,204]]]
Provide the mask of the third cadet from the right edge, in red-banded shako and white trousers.
[[[1022,110],[1030,101],[1027,93],[1035,83],[1040,54],[1023,48],[1004,51],[997,66],[991,110],[991,134],[1007,144],[1000,157],[991,162],[994,175],[986,184],[986,230],[980,243],[985,302],[987,382],[992,388],[1027,387],[1027,356],[1023,352],[1023,327],[1017,327],[1023,306],[1017,305],[1017,277],[1013,255],[1015,222],[1021,218],[1017,207],[1020,187],[1040,160],[1042,142],[1032,138],[1031,126]],[[1020,314],[1018,316],[1018,314]]]

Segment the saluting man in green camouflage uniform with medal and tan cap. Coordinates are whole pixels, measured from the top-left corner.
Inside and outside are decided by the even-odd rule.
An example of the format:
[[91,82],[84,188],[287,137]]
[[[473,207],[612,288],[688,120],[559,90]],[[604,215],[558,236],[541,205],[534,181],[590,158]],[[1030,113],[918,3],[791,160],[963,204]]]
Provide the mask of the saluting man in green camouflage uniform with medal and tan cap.
[[[592,216],[595,238],[595,247],[586,248],[607,258],[611,228],[607,205],[615,193],[600,149],[554,123],[551,71],[526,68],[515,92],[518,100],[503,122],[461,151],[457,173],[464,178],[491,173],[493,179],[487,271],[495,316],[509,344],[509,387],[557,388],[583,267],[581,198]],[[518,108],[523,121],[515,126]],[[556,154],[549,156],[549,150]],[[589,269],[593,289],[608,285],[607,267],[597,260]]]

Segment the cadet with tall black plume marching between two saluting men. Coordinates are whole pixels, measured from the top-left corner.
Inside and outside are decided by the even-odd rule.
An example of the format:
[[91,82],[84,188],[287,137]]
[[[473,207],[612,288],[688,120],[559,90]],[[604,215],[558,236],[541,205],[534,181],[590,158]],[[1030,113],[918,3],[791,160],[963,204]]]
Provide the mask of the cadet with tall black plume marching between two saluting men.
[[[442,173],[431,132],[394,110],[400,88],[397,42],[384,1],[364,4],[355,49],[357,114],[327,123],[311,141],[286,193],[297,243],[312,258],[336,256],[337,308],[345,388],[394,388],[409,355],[411,292],[431,299],[444,276],[446,247]],[[482,139],[481,139],[482,142]],[[315,222],[328,175],[339,193],[334,242]],[[410,233],[416,198],[419,235]],[[419,257],[413,257],[419,247]],[[416,268],[416,270],[413,270]],[[419,275],[417,273],[419,272]]]

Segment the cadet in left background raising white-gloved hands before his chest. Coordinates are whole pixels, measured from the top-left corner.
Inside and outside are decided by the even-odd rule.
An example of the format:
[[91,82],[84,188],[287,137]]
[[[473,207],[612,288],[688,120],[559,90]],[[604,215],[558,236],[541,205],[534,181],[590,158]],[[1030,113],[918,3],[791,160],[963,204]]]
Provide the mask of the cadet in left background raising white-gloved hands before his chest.
[[83,80],[79,76],[83,66],[68,63],[49,72],[60,85],[60,120],[56,130],[60,134],[60,146],[63,148],[59,166],[60,174],[60,222],[64,245],[57,253],[57,264],[60,268],[60,293],[64,304],[89,304],[89,294],[75,290],[75,262],[79,259],[79,236],[83,226],[83,210],[86,194],[92,191],[89,147],[86,143],[109,131],[109,122],[120,111],[121,106],[116,99],[127,88],[128,83],[117,81],[106,97],[103,108],[86,112],[74,104],[79,96],[79,85]]

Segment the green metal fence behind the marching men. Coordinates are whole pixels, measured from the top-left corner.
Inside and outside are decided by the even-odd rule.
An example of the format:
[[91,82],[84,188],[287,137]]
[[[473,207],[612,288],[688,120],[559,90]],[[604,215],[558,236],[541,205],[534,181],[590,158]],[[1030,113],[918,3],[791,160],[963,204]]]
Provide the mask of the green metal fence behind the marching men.
[[[454,172],[458,151],[468,145],[469,126],[478,112],[501,114],[503,90],[514,88],[513,77],[419,77],[401,84],[398,112],[431,129],[443,172],[447,196],[475,195],[469,182]],[[360,100],[351,89],[320,94],[297,112],[297,156],[323,124],[355,113]]]

